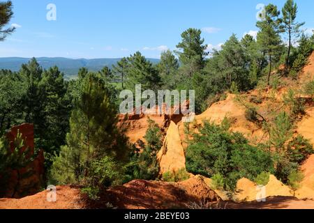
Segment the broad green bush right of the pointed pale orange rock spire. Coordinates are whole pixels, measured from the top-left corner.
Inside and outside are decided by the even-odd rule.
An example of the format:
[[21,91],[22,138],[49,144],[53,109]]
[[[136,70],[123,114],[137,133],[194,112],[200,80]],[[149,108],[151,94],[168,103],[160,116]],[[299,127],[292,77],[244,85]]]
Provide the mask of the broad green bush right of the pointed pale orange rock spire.
[[253,180],[262,171],[272,171],[270,154],[249,145],[242,134],[227,132],[209,122],[204,122],[199,132],[186,150],[186,169],[190,173],[207,177],[220,174],[225,189],[234,190],[239,178]]

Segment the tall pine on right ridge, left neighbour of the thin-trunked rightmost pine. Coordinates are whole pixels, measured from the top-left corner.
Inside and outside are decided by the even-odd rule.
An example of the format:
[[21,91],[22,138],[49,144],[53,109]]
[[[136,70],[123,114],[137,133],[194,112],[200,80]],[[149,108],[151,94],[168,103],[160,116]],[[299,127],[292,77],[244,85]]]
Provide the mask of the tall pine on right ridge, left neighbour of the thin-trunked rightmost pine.
[[265,15],[262,21],[257,22],[256,26],[260,28],[257,33],[257,43],[261,49],[268,55],[269,72],[267,76],[267,85],[270,85],[271,70],[273,68],[274,56],[281,44],[279,36],[281,19],[279,19],[280,11],[277,6],[269,4],[265,7]]

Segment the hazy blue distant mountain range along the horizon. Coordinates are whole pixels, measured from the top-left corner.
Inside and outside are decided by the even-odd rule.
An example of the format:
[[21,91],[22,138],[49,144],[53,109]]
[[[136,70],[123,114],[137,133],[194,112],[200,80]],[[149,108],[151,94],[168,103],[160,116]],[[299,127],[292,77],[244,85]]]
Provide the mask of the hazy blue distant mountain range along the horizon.
[[[22,57],[2,57],[0,58],[0,69],[8,69],[12,71],[20,70],[23,63],[28,63],[29,58]],[[85,67],[91,71],[101,70],[104,66],[112,68],[120,59],[67,59],[63,57],[38,57],[36,58],[40,66],[47,69],[52,66],[58,66],[66,77],[77,75],[80,68]],[[158,63],[159,59],[148,59],[152,63]]]

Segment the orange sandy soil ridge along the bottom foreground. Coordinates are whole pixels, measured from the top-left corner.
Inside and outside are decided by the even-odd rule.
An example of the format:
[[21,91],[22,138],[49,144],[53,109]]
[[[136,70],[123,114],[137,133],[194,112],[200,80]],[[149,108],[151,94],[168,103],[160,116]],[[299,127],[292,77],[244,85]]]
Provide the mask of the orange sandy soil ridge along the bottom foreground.
[[107,190],[100,201],[89,201],[77,187],[57,187],[57,202],[48,202],[47,192],[23,199],[0,199],[0,209],[89,209],[106,208],[111,203],[122,209],[190,208],[191,203],[211,203],[212,208],[226,209],[314,209],[314,201],[293,197],[269,197],[266,202],[234,203],[218,201],[216,194],[197,178],[182,183],[133,180]]

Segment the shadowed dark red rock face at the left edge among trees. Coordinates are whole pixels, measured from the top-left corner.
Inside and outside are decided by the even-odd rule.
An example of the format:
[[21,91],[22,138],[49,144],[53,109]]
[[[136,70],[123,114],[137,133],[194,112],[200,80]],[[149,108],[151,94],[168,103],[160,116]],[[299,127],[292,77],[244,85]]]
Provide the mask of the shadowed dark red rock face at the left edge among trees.
[[[27,147],[29,147],[29,156],[33,155],[35,148],[33,139],[33,125],[22,124],[15,126],[10,130],[10,132],[6,134],[11,151],[14,149],[13,141],[15,137],[17,137],[17,132],[22,134],[25,144],[25,146],[21,149],[21,153],[24,152]],[[27,165],[27,167],[21,169],[9,169],[8,172],[9,180],[6,185],[6,191],[1,192],[1,194],[4,194],[4,197],[21,198],[36,194],[43,187],[43,150],[39,151],[38,155]]]

